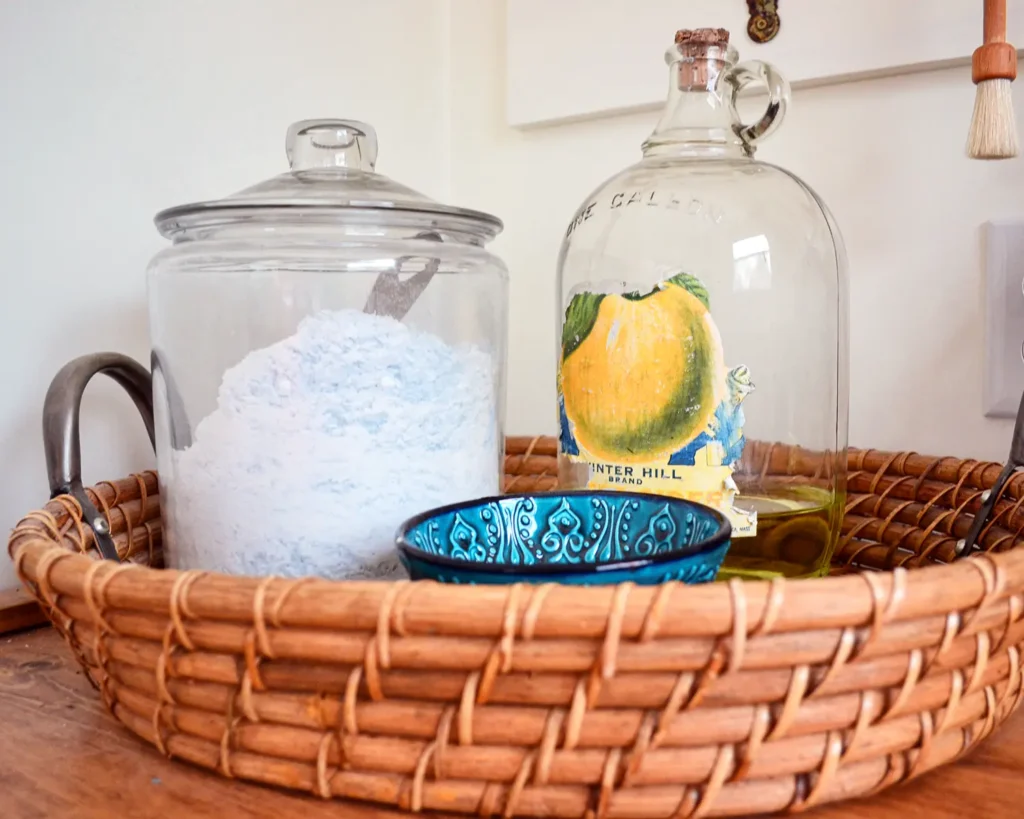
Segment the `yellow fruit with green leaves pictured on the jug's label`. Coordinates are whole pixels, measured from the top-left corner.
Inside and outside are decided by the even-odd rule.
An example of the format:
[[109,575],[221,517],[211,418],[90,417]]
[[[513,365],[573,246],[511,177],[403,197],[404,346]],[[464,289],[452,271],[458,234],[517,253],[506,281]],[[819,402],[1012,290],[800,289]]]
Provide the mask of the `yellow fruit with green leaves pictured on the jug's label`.
[[724,371],[707,291],[693,276],[642,296],[578,294],[566,310],[565,415],[593,457],[637,463],[679,450],[708,427]]

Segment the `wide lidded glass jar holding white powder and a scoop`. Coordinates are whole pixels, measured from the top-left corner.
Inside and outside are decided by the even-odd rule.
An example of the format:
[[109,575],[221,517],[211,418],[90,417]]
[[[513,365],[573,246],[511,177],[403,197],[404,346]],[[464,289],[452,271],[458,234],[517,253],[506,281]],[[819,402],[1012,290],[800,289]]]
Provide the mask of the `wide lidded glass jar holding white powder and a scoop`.
[[165,553],[387,576],[404,519],[500,489],[502,224],[375,173],[364,123],[297,123],[287,153],[288,172],[156,218]]

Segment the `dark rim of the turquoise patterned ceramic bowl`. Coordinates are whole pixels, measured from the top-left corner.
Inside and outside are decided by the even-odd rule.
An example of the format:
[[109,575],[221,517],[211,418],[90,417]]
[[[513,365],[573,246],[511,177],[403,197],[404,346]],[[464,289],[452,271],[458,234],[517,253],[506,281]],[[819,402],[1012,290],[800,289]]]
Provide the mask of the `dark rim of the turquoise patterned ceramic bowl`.
[[[511,565],[509,563],[482,563],[475,560],[456,560],[455,558],[443,555],[433,555],[429,552],[425,552],[410,543],[408,538],[410,530],[439,515],[451,514],[453,512],[459,512],[463,509],[483,506],[485,504],[493,504],[500,501],[516,501],[539,497],[635,498],[643,500],[644,502],[649,502],[654,499],[657,501],[664,501],[670,505],[689,507],[691,509],[698,509],[702,513],[710,513],[711,517],[718,521],[718,529],[710,537],[700,541],[699,546],[693,549],[673,549],[669,552],[651,555],[650,557],[631,558],[630,560],[594,563],[541,563],[531,565]],[[409,518],[398,527],[397,532],[395,532],[395,548],[399,554],[403,554],[410,558],[467,572],[473,571],[483,574],[595,574],[605,571],[622,571],[623,569],[639,569],[652,564],[669,563],[683,557],[705,555],[715,551],[723,544],[728,544],[731,540],[732,524],[729,522],[729,519],[714,507],[706,506],[705,504],[697,503],[696,501],[689,501],[685,498],[674,498],[666,494],[656,494],[655,492],[618,491],[617,489],[555,489],[544,492],[509,492],[508,494],[492,494],[485,498],[475,498],[470,501],[460,501],[457,504],[447,504],[445,506],[435,507],[434,509],[428,509],[425,512],[421,512],[418,515],[414,515]]]

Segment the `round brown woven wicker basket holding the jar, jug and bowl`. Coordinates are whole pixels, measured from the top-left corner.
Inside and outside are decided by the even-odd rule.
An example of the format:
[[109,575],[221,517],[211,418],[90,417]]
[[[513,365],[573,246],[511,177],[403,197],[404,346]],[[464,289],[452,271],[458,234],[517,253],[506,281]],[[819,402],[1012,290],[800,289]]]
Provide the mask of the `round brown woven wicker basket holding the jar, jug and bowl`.
[[[757,451],[766,474],[802,456]],[[555,482],[508,441],[506,485]],[[798,811],[954,760],[1019,704],[1024,478],[952,565],[999,466],[856,451],[841,576],[656,588],[243,578],[161,564],[156,475],[72,495],[10,552],[117,719],[222,776],[419,812]],[[889,569],[874,571],[873,569]]]

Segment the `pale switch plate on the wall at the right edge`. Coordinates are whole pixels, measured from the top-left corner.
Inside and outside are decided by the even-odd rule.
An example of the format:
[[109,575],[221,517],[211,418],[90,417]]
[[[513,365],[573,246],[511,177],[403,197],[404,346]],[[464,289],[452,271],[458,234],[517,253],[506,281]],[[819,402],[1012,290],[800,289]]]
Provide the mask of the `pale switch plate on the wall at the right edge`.
[[1024,392],[1024,221],[983,227],[985,415],[1014,418]]

